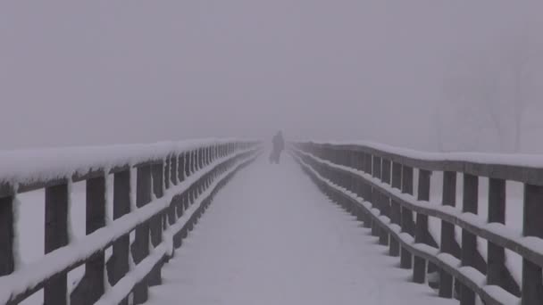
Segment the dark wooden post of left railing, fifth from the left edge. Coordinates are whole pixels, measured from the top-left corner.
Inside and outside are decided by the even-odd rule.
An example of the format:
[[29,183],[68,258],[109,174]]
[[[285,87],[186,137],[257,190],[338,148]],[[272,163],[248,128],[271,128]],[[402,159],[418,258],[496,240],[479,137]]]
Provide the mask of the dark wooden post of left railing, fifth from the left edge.
[[[136,205],[138,209],[151,202],[151,165],[138,166],[137,171]],[[138,264],[149,255],[149,222],[143,222],[136,228],[136,237],[132,243],[132,257]],[[148,299],[148,284],[146,278],[134,287],[134,303],[142,304]]]

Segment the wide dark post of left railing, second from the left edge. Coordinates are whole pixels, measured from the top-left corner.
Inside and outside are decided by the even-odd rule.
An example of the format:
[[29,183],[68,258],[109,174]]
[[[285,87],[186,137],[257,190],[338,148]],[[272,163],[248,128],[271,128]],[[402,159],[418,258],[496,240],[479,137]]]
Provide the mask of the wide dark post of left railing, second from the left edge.
[[[46,187],[46,254],[69,243],[68,192],[68,181],[60,185]],[[67,286],[67,272],[65,271],[47,280],[44,285],[44,304],[66,304]]]

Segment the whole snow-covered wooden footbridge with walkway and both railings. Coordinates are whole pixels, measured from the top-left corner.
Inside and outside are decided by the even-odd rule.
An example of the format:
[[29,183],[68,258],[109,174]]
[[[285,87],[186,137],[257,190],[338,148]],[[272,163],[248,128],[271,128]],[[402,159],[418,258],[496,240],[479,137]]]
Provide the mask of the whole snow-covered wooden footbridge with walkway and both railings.
[[[289,144],[274,167],[261,152],[258,142],[202,140],[0,153],[0,303],[543,304],[543,158],[312,142]],[[224,203],[218,192],[255,160],[259,171],[231,185],[239,202],[198,235],[210,203]],[[85,225],[70,217],[81,181]],[[309,181],[355,218],[324,208]],[[23,263],[19,197],[37,190],[44,255]],[[510,220],[510,210],[522,218]],[[73,238],[74,226],[85,235]],[[234,263],[245,271],[229,274],[223,264]],[[333,280],[315,273],[323,266]],[[213,291],[213,276],[226,288]]]

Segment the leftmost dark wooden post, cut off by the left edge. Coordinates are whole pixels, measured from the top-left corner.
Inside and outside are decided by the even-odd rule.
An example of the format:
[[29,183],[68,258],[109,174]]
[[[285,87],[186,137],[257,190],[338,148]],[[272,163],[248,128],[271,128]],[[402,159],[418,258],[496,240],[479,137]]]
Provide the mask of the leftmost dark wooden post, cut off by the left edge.
[[[15,219],[13,219],[13,191],[9,185],[0,184],[0,276],[7,276],[15,269],[13,237]],[[5,191],[5,192],[4,192]]]

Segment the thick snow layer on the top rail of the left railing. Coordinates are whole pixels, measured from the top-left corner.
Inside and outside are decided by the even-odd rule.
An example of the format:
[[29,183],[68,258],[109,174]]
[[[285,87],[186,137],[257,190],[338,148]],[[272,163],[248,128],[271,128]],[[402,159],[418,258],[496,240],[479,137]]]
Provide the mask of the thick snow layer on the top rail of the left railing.
[[202,139],[156,144],[78,146],[0,152],[0,183],[29,183],[85,174],[91,169],[113,169],[145,161],[163,160],[172,152],[235,139]]

